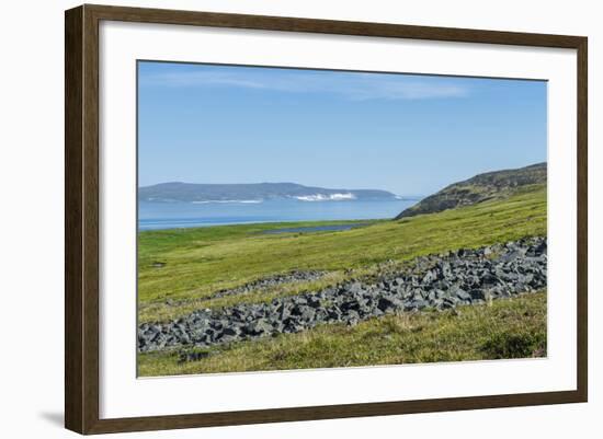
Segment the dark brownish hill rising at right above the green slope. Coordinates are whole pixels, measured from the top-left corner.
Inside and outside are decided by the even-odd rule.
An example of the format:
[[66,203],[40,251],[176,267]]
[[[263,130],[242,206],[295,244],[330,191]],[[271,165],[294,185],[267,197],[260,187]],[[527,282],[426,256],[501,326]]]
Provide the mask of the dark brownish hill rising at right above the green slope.
[[434,213],[462,206],[470,206],[490,199],[507,198],[531,185],[546,184],[547,164],[537,163],[515,170],[478,174],[454,183],[403,210],[395,219]]

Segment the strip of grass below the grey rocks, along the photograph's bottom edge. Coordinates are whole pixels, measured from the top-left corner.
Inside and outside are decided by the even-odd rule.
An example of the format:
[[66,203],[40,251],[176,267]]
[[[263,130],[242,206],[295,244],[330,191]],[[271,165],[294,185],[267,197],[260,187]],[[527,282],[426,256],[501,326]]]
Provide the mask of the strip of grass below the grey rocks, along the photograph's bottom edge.
[[350,327],[214,347],[179,363],[177,353],[138,356],[141,377],[546,356],[546,292],[457,311],[405,313]]

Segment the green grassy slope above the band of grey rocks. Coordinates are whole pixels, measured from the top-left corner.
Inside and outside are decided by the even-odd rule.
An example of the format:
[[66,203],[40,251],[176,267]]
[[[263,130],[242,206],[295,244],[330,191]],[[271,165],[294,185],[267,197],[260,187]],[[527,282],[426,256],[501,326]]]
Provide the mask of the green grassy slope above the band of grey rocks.
[[[349,231],[260,233],[291,226],[273,223],[141,232],[139,320],[173,319],[200,308],[198,300],[213,291],[278,272],[311,268],[332,273],[322,281],[293,286],[272,294],[319,288],[326,282],[340,280],[346,268],[371,269],[387,259],[408,261],[458,247],[543,235],[546,234],[546,188],[542,186],[505,200],[400,221],[377,221]],[[153,268],[156,261],[167,265]],[[269,292],[264,299],[270,297]],[[179,301],[178,304],[166,305],[168,298]],[[203,307],[248,299],[229,298]]]

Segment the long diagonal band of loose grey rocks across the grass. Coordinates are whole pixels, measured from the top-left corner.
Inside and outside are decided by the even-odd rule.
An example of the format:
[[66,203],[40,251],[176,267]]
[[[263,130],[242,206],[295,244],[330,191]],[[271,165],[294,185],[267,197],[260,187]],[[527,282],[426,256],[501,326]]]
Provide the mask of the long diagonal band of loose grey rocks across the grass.
[[356,324],[385,314],[446,310],[542,290],[547,284],[546,238],[417,258],[409,268],[317,292],[198,310],[138,328],[138,349],[219,344],[297,333],[323,323]]

